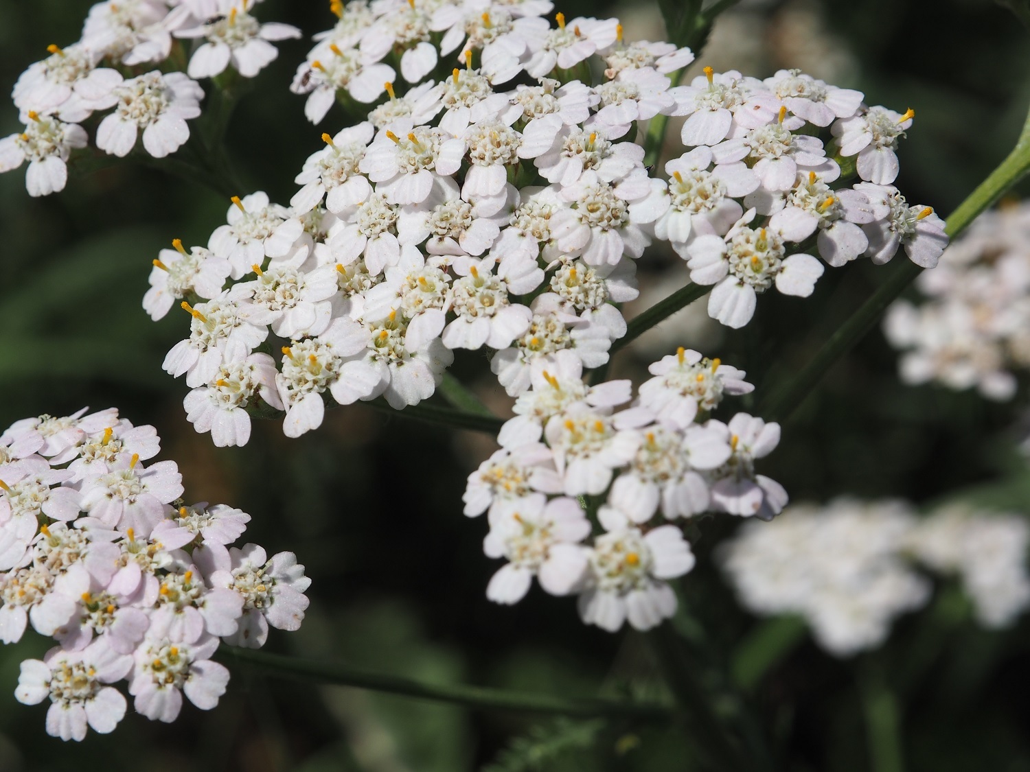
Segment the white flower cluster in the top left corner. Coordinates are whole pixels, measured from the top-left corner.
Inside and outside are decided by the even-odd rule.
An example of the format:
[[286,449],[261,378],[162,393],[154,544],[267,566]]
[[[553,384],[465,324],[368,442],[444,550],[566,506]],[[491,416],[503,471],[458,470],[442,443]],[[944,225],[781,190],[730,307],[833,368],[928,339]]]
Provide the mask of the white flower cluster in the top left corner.
[[[31,196],[64,189],[72,151],[87,147],[80,126],[110,110],[96,124],[95,144],[125,157],[142,137],[156,159],[190,139],[186,122],[201,114],[204,90],[198,78],[232,67],[253,77],[278,55],[272,40],[297,38],[284,24],[261,24],[249,10],[260,0],[117,0],[97,3],[81,39],[27,69],[11,95],[25,131],[0,139],[0,172],[28,162]],[[186,72],[180,38],[202,40]]]

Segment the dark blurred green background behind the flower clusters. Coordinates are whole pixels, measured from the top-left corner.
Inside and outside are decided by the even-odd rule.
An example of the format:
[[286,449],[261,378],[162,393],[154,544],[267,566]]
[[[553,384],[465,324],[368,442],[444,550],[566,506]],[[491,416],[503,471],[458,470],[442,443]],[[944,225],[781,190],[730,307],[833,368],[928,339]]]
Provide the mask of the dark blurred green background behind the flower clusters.
[[[258,14],[310,35],[334,21],[328,5],[268,0]],[[0,90],[9,91],[47,44],[77,39],[89,6],[0,3]],[[663,37],[656,5],[570,0],[559,9],[569,17],[617,15],[630,40]],[[797,67],[860,89],[870,104],[914,108],[898,185],[909,201],[947,213],[1019,133],[1030,100],[1028,34],[988,0],[743,2],[720,17],[694,67],[760,77]],[[278,61],[233,117],[229,153],[246,185],[241,196],[264,189],[287,202],[319,134],[342,128],[336,111],[309,125],[303,98],[287,91],[309,45],[281,43]],[[0,114],[0,136],[19,130],[16,118],[12,107]],[[660,689],[640,634],[587,628],[571,599],[536,590],[513,608],[486,600],[496,566],[482,554],[482,524],[461,516],[460,497],[466,476],[494,447],[488,437],[360,406],[332,411],[320,430],[298,441],[268,423],[255,425],[245,448],[215,449],[194,432],[181,408],[185,387],[161,370],[185,320],[173,313],[153,324],[140,300],[158,250],[173,238],[204,244],[229,205],[128,163],[72,172],[63,194],[36,200],[21,172],[0,176],[0,424],[87,405],[116,406],[135,423],[154,424],[165,440],[162,457],[182,469],[187,499],[243,508],[253,517],[248,536],[270,553],[295,551],[306,564],[313,578],[308,617],[298,633],[273,631],[273,650],[541,693],[589,695],[605,685],[617,694],[630,681]],[[642,297],[629,314],[686,281],[671,251],[656,248],[640,266]],[[648,362],[683,345],[747,370],[760,397],[805,362],[881,277],[861,261],[828,271],[810,301],[769,293],[740,331],[718,328],[696,304],[619,354],[613,374],[639,383]],[[1030,512],[1030,471],[1017,450],[1026,384],[1000,405],[974,392],[905,387],[896,357],[879,331],[870,334],[784,427],[763,471],[795,501],[847,493],[925,504],[961,496]],[[459,356],[454,372],[507,410],[481,353]],[[712,547],[734,526],[728,519],[701,525],[700,564],[682,590],[691,624],[710,640],[709,656],[747,667],[776,647],[754,637],[760,623],[740,609],[713,567]],[[912,768],[1030,769],[1030,621],[985,632],[951,589],[938,587],[927,610],[902,618],[885,648],[859,668],[893,685],[897,701],[889,707],[900,718]],[[627,730],[470,712],[252,671],[234,674],[210,713],[187,707],[167,727],[130,714],[112,736],[65,744],[44,734],[42,708],[19,705],[10,694],[19,663],[45,644],[27,636],[0,648],[0,691],[9,694],[0,699],[0,772],[695,766],[689,733],[679,727]],[[865,737],[866,720],[877,716],[863,717],[870,703],[855,686],[856,667],[804,637],[781,654],[751,699],[790,760],[784,768],[877,768]]]

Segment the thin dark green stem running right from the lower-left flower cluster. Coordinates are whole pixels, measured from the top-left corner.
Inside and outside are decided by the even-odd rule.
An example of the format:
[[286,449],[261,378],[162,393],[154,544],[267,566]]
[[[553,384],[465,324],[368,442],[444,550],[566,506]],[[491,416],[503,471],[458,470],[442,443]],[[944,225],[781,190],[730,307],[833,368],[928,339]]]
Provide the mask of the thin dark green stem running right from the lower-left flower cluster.
[[229,665],[261,668],[269,675],[387,692],[415,699],[464,705],[469,708],[584,717],[605,715],[651,720],[665,718],[672,713],[668,706],[655,703],[587,697],[555,697],[553,695],[509,692],[457,683],[426,683],[414,678],[373,673],[337,663],[315,662],[298,657],[256,652],[252,648],[222,645],[216,657]]

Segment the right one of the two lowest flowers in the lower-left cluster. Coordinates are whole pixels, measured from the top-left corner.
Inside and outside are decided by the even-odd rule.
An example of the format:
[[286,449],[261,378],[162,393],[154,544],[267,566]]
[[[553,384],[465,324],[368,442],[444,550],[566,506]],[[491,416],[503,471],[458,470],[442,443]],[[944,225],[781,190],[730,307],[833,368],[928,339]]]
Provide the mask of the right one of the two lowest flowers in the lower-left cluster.
[[148,634],[136,650],[129,694],[136,711],[150,721],[175,721],[182,694],[201,710],[210,710],[226,693],[229,670],[209,658],[218,639],[204,635],[195,643]]

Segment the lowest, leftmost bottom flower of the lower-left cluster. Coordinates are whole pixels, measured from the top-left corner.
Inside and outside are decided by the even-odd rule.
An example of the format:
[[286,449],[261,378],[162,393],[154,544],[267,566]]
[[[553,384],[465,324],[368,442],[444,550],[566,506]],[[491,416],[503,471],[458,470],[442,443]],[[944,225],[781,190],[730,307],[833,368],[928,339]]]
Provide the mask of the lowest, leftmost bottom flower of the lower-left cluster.
[[43,660],[26,660],[14,697],[25,705],[49,698],[46,734],[62,740],[82,740],[87,726],[99,734],[113,732],[126,714],[126,698],[113,687],[132,670],[132,657],[97,641],[81,652],[60,646]]

